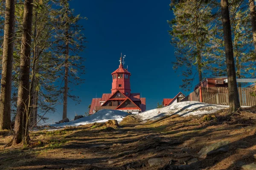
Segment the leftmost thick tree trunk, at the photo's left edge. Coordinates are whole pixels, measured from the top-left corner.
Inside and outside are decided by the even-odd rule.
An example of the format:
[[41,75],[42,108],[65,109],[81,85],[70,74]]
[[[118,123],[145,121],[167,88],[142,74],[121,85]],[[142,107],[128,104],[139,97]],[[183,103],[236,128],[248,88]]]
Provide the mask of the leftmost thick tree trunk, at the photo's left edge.
[[15,0],[6,0],[3,65],[0,92],[0,130],[11,128],[12,60],[14,48]]

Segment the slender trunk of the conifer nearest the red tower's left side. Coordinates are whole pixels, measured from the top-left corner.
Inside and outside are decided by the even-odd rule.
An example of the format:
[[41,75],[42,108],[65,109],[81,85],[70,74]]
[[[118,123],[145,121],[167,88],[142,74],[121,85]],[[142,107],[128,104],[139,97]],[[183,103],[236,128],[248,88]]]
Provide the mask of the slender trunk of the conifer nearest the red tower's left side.
[[63,95],[63,116],[62,119],[67,117],[67,92],[68,92],[68,55],[69,55],[69,43],[68,43],[68,31],[66,31],[66,50],[65,50],[65,85]]

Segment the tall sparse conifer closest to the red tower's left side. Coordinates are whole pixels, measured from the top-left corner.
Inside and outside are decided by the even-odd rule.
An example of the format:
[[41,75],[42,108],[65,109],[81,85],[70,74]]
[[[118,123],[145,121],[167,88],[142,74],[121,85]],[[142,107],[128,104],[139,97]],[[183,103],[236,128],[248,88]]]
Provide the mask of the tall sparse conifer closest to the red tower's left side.
[[[79,20],[84,19],[80,15],[74,15],[74,10],[70,9],[69,0],[60,0],[59,6],[61,9],[56,18],[56,27],[58,28],[56,34],[56,49],[55,54],[59,56],[61,62],[64,62],[63,69],[60,71],[61,76],[64,77],[64,87],[61,88],[63,94],[63,119],[67,117],[67,99],[70,97],[77,100],[77,96],[70,94],[69,84],[73,83],[79,85],[83,79],[79,74],[84,74],[84,59],[79,56],[85,46],[85,37],[81,33],[82,26],[78,24]],[[78,73],[79,71],[79,73]]]

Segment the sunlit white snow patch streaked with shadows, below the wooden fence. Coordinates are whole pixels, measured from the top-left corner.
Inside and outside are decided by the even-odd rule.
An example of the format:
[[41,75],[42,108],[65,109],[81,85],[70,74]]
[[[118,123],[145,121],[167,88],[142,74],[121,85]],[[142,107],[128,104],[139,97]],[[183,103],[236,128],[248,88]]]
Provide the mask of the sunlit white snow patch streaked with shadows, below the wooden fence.
[[156,120],[160,117],[167,115],[179,115],[179,116],[189,116],[189,115],[202,115],[215,113],[221,109],[229,108],[229,106],[223,105],[211,105],[207,103],[201,103],[196,101],[191,102],[178,102],[170,106],[163,108],[152,109],[139,113],[138,116],[143,120]]

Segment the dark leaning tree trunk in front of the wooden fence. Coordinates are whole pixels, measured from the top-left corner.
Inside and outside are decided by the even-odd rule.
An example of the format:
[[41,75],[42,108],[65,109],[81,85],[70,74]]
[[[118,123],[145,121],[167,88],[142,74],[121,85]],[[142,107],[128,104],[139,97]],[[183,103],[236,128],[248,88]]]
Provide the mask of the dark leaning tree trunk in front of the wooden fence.
[[240,108],[238,89],[236,83],[236,69],[233,54],[233,44],[231,36],[230,15],[228,0],[221,0],[221,16],[224,34],[225,56],[227,64],[227,80],[229,91],[229,113],[238,111]]

